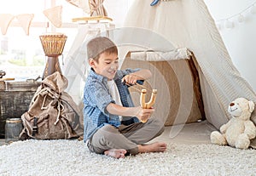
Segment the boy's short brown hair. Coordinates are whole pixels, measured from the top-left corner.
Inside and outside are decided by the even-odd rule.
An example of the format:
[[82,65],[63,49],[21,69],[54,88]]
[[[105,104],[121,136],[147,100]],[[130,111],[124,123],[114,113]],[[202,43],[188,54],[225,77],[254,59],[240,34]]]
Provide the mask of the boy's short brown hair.
[[87,43],[88,60],[92,58],[98,62],[102,53],[118,54],[118,48],[108,37],[95,37]]

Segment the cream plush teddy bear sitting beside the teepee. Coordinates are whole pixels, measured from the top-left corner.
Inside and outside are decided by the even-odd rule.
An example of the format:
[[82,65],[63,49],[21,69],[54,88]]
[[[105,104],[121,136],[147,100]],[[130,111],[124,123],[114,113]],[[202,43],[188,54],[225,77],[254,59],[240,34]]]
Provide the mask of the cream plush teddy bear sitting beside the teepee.
[[256,127],[250,120],[253,110],[254,103],[251,100],[237,98],[232,101],[228,107],[232,118],[220,127],[220,133],[218,131],[211,133],[212,144],[247,149],[250,140],[256,136]]

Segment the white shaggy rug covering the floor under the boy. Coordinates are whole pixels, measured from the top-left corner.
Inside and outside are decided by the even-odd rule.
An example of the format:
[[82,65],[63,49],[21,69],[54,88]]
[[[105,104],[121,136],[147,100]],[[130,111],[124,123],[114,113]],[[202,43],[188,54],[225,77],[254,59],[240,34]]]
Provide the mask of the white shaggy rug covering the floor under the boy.
[[0,147],[0,175],[256,175],[256,150],[168,144],[164,153],[114,159],[90,153],[83,141],[31,139]]

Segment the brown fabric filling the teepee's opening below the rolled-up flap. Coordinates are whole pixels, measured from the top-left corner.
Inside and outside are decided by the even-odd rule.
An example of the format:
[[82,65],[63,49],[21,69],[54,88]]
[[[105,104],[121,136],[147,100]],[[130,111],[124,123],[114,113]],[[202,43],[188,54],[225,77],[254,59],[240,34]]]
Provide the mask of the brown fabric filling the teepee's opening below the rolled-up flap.
[[[121,69],[139,67],[149,69],[153,77],[144,82],[148,90],[157,89],[153,116],[165,122],[166,126],[197,122],[204,117],[201,110],[199,94],[194,91],[199,87],[194,77],[191,77],[189,65],[191,59],[147,61],[132,60],[132,53],[127,54]],[[138,88],[130,88],[135,105],[139,105],[140,92]],[[146,101],[150,98],[147,94]]]

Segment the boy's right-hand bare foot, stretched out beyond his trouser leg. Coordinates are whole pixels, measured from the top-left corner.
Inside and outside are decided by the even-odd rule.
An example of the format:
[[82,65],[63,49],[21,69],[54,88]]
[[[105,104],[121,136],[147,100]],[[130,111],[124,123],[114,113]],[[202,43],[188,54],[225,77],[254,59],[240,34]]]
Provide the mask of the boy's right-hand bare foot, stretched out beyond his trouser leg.
[[166,143],[164,142],[155,142],[150,145],[138,145],[139,153],[146,153],[146,152],[163,152],[166,150]]

